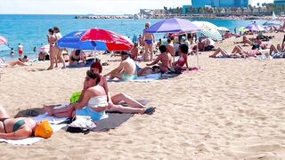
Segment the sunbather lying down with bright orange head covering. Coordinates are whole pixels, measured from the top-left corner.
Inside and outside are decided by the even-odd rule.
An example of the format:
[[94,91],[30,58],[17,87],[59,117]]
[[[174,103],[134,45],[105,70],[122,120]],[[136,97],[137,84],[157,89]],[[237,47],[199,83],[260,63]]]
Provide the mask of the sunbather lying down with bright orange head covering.
[[31,136],[47,139],[52,134],[53,128],[48,121],[37,123],[27,117],[12,118],[0,106],[0,139],[20,140]]

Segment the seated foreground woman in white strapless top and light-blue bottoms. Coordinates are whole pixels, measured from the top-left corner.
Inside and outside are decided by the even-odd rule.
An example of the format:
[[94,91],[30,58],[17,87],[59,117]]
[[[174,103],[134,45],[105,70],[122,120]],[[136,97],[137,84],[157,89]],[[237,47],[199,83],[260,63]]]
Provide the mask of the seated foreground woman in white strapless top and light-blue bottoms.
[[104,88],[98,85],[100,80],[99,74],[88,70],[86,72],[84,82],[85,92],[82,100],[64,108],[44,106],[45,111],[48,115],[57,117],[90,116],[93,121],[105,118],[105,109],[109,104]]

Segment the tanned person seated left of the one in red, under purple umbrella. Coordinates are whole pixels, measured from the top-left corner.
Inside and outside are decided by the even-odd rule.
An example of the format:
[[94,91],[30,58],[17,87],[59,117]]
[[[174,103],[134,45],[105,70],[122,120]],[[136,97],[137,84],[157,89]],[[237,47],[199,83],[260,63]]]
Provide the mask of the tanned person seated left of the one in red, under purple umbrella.
[[165,73],[169,70],[169,68],[171,68],[171,64],[172,64],[171,55],[170,53],[167,52],[167,47],[165,45],[160,45],[159,51],[161,52],[159,54],[159,57],[153,62],[151,62],[150,64],[146,64],[146,65],[153,66],[155,64],[158,64],[160,61],[161,62],[159,63],[160,71],[161,73]]

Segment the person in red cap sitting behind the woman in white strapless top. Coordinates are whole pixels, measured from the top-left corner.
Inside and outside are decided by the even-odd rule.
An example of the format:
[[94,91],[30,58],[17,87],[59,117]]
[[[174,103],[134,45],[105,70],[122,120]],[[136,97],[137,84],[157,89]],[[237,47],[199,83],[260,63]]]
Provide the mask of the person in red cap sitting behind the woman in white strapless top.
[[[90,70],[96,74],[102,73],[102,65],[100,63],[100,60],[96,60],[93,65],[91,65]],[[138,113],[138,114],[151,114],[154,111],[154,108],[146,108],[138,101],[132,99],[130,96],[126,95],[125,93],[118,93],[114,96],[110,96],[109,87],[107,84],[106,77],[100,75],[100,82],[99,85],[101,85],[105,92],[107,93],[107,98],[109,102],[109,106],[106,108],[106,111],[118,111],[121,113]],[[83,89],[83,93],[81,94],[81,97],[79,99],[82,100],[85,94],[85,88]],[[126,104],[128,104],[131,107],[123,107],[119,105],[119,102],[125,101]]]

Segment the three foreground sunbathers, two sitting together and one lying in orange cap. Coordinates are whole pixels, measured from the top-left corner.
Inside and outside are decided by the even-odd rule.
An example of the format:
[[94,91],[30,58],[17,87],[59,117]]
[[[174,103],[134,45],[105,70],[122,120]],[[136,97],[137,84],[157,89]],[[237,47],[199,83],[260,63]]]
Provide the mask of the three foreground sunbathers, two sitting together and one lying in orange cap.
[[[86,72],[77,103],[65,108],[55,108],[59,105],[44,106],[45,111],[50,116],[57,117],[90,116],[93,121],[106,118],[106,111],[149,115],[155,111],[155,108],[147,108],[125,93],[111,96],[106,76],[101,74],[101,62],[96,60]],[[129,107],[121,105],[121,102],[126,102]],[[26,117],[12,118],[7,115],[3,107],[0,107],[0,139],[19,140],[31,136],[49,138],[52,133],[53,129],[47,121],[36,122]]]

